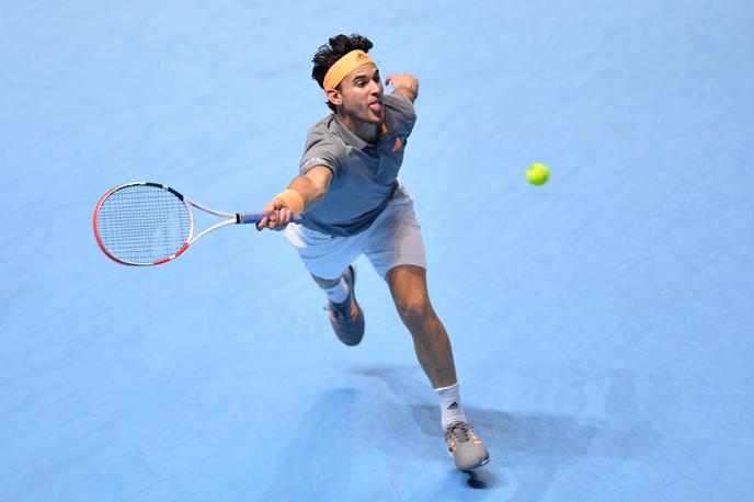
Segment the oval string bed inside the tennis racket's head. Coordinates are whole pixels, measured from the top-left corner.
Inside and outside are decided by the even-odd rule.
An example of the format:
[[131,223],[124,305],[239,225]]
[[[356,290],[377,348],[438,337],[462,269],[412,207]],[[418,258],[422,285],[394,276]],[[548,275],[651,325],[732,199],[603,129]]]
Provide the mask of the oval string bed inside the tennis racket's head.
[[191,238],[192,226],[188,208],[174,193],[142,184],[110,194],[100,206],[96,223],[107,252],[136,264],[175,254]]

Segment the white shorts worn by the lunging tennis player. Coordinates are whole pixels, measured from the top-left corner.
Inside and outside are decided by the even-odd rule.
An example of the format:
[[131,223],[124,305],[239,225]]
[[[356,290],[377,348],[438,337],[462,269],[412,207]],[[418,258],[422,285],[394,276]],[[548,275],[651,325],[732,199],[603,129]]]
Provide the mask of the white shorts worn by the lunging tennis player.
[[317,277],[334,279],[362,253],[387,279],[390,269],[418,265],[426,269],[422,229],[413,210],[413,197],[399,185],[377,219],[355,236],[330,236],[301,225],[288,224],[285,238],[294,244],[307,270]]

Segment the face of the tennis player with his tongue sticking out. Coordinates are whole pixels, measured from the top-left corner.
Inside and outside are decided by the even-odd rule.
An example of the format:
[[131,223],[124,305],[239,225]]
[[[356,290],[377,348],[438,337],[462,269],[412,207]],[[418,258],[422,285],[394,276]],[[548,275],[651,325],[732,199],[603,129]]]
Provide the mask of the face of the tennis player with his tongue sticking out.
[[385,121],[382,81],[377,66],[362,65],[341,81],[344,112],[354,119],[367,124]]

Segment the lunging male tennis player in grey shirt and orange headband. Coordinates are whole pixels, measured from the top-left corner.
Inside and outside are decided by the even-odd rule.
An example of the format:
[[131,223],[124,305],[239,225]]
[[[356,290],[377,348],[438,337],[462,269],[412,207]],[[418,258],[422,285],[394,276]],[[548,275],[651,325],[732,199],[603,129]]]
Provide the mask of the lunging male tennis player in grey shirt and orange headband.
[[[456,467],[468,470],[487,464],[489,454],[466,420],[450,342],[430,303],[421,228],[397,178],[416,119],[419,81],[409,73],[388,76],[393,91],[384,94],[367,55],[372,47],[363,36],[338,35],[315,55],[311,76],[333,113],[309,130],[300,174],[264,207],[258,228],[285,229],[327,294],[330,322],[346,345],[364,335],[352,263],[366,254],[387,281],[437,393]],[[294,216],[300,220],[292,223]]]

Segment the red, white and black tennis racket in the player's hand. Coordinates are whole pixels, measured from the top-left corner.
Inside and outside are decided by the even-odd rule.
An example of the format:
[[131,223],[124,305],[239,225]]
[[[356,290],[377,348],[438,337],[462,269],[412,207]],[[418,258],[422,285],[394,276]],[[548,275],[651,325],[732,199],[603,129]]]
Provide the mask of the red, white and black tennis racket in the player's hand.
[[[195,235],[192,208],[222,218]],[[176,259],[220,227],[255,224],[264,213],[220,213],[160,183],[126,183],[105,193],[94,209],[94,237],[104,253],[124,265],[159,265]]]

